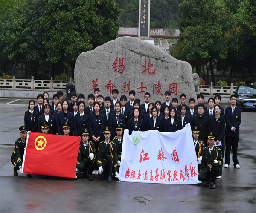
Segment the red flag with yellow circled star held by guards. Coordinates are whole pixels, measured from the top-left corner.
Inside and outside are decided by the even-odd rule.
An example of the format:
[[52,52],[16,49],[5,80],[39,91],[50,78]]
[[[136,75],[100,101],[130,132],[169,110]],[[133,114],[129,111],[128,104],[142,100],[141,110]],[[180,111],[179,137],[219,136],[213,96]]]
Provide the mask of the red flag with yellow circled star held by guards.
[[80,138],[29,132],[23,173],[76,178]]

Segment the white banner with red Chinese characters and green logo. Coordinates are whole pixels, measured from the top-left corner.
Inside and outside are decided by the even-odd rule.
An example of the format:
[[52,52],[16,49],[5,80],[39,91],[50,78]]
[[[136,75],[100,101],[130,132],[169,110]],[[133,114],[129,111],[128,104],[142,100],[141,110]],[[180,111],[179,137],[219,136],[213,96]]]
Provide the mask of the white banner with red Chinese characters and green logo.
[[177,132],[124,132],[121,181],[198,184],[198,163],[191,127]]

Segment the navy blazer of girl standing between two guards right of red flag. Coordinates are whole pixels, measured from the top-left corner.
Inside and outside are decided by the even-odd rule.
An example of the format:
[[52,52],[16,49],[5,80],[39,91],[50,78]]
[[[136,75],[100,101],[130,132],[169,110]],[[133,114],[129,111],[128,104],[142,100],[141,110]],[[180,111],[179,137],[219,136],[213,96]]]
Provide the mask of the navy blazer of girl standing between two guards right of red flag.
[[99,136],[103,138],[103,127],[105,127],[105,119],[104,115],[99,113],[98,120],[96,121],[95,113],[90,116],[89,122],[89,130],[90,130],[90,137],[94,136],[98,138]]

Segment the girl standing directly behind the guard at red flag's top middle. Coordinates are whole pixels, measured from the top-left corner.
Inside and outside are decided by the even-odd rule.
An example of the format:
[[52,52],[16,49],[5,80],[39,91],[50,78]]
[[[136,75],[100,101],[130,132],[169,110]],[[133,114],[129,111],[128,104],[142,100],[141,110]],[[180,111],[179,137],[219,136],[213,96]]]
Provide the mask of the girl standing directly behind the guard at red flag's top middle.
[[64,100],[62,103],[63,111],[59,112],[56,117],[56,124],[57,124],[57,134],[64,135],[62,124],[64,121],[68,121],[71,124],[70,133],[69,135],[73,135],[73,124],[74,124],[74,115],[68,111],[69,103],[67,100]]

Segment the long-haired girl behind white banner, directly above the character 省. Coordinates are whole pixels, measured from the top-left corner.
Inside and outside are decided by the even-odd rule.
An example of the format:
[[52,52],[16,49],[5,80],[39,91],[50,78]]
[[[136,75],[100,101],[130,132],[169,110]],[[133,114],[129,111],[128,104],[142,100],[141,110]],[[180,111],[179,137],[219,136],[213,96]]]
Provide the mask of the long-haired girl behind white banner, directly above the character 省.
[[177,119],[176,108],[170,108],[169,118],[165,120],[163,131],[164,132],[176,132],[177,130],[181,130],[181,123]]

